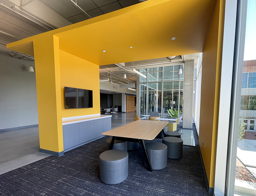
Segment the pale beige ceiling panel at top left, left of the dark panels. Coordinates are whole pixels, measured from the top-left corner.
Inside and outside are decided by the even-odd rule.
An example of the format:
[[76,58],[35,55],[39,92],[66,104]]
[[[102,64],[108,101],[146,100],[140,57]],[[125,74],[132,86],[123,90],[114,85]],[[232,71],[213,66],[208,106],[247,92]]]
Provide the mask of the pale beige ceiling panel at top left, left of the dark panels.
[[71,25],[67,19],[61,17],[56,12],[52,11],[46,5],[41,2],[34,0],[23,7],[26,11],[36,15],[37,17],[47,21],[48,23],[60,28],[63,26]]

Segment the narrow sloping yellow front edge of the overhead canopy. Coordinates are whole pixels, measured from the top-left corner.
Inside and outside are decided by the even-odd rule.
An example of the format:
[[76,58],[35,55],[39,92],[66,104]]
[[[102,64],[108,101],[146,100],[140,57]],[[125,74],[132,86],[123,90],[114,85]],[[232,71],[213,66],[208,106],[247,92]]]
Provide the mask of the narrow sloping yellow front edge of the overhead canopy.
[[41,33],[41,34],[38,34],[38,35],[31,36],[31,37],[28,37],[28,38],[25,38],[25,39],[22,39],[22,40],[18,40],[18,41],[6,44],[6,47],[8,49],[15,50],[17,52],[21,52],[21,53],[24,53],[24,54],[34,56],[34,51],[32,53],[32,50],[34,50],[33,49],[33,43],[31,44],[31,42],[33,42],[33,40],[36,39],[38,36],[41,37],[41,36],[43,36],[47,33],[50,33],[50,34],[56,35],[58,37],[58,35],[57,35],[58,33],[73,30],[73,29],[76,29],[76,28],[79,28],[79,27],[83,27],[83,26],[86,26],[86,25],[97,23],[97,22],[107,20],[107,19],[110,19],[110,18],[115,18],[115,17],[121,16],[121,15],[124,15],[124,14],[128,14],[128,13],[131,13],[131,12],[134,12],[134,11],[142,10],[142,9],[145,9],[145,8],[148,8],[148,7],[151,7],[151,6],[154,6],[154,5],[162,4],[162,3],[165,3],[165,2],[168,2],[168,1],[172,1],[172,0],[157,0],[157,1],[148,0],[148,1],[145,1],[145,2],[142,2],[142,3],[139,3],[139,4],[135,4],[135,5],[120,9],[120,10],[116,10],[116,11],[113,11],[113,12],[110,12],[110,13],[107,13],[107,14],[103,14],[103,15],[95,17],[95,18],[84,20],[84,21],[76,23],[76,24],[64,26],[64,27],[61,27],[59,29],[55,29],[55,30],[52,30],[52,31],[48,31],[48,32],[45,32],[45,33]]

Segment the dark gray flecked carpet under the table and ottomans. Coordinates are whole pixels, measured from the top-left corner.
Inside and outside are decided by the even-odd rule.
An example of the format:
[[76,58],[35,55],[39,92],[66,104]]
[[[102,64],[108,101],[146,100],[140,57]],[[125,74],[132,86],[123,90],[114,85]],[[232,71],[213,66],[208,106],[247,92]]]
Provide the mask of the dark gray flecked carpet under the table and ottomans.
[[[181,129],[182,123],[177,127]],[[104,137],[71,150],[61,157],[50,156],[0,175],[0,195],[4,196],[204,196],[207,193],[193,125],[196,146],[183,146],[183,157],[168,159],[163,170],[148,171],[141,147],[129,151],[129,175],[118,185],[99,179],[99,155],[106,149]],[[155,139],[154,142],[161,142]]]

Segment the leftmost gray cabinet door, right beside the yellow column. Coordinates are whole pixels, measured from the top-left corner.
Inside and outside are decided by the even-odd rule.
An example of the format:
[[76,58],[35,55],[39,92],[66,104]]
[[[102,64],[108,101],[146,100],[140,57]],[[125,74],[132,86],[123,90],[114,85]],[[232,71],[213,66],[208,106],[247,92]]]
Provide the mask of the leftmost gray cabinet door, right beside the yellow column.
[[63,125],[63,148],[64,150],[80,144],[79,123]]

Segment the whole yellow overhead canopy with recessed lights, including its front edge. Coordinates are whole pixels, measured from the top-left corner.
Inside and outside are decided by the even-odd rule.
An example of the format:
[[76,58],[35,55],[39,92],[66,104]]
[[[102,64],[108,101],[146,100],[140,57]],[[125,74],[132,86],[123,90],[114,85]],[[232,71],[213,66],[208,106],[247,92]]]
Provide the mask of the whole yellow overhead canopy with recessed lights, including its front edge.
[[[98,65],[193,54],[203,50],[215,3],[148,0],[46,33],[59,37],[61,50]],[[31,44],[24,43],[43,40],[46,33],[10,43],[7,48],[31,55]]]

